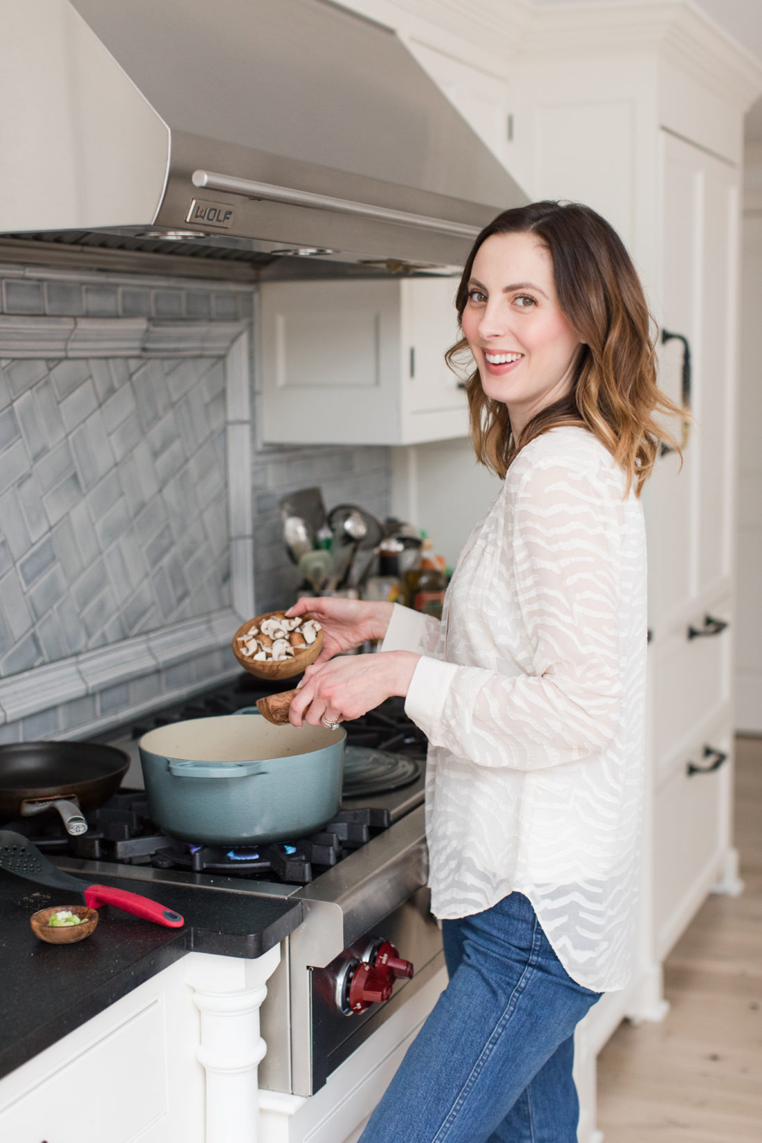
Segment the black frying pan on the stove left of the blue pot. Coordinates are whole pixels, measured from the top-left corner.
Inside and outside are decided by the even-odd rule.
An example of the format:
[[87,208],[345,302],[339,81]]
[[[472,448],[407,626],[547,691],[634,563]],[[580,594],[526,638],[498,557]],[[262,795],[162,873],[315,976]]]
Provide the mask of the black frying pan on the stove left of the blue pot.
[[0,746],[0,817],[57,809],[66,831],[87,829],[81,810],[117,792],[129,758],[94,742],[14,742]]

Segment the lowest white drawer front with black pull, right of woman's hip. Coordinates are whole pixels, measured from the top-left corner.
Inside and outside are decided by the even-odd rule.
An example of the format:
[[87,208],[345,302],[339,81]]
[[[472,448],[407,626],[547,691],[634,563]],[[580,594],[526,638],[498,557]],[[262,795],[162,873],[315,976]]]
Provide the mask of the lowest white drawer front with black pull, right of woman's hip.
[[723,822],[730,783],[731,730],[707,745],[728,754],[709,773],[688,773],[689,761],[709,766],[701,743],[657,791],[653,815],[653,928],[657,959],[664,959],[714,884],[724,850]]

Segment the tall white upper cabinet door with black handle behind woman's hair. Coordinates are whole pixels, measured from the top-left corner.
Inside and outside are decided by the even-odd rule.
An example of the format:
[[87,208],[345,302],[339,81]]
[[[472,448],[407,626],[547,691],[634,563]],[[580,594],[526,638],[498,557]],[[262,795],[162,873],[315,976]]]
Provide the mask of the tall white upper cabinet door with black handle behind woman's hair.
[[693,419],[682,471],[676,454],[661,457],[644,494],[651,626],[682,623],[732,573],[738,173],[666,131],[661,142],[659,383]]

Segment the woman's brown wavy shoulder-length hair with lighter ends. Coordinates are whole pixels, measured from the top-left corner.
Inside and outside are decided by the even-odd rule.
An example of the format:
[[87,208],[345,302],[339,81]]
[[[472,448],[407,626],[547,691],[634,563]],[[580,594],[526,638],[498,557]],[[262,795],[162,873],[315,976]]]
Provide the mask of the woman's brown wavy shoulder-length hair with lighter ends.
[[[484,226],[466,259],[456,294],[458,326],[468,299],[474,257],[492,234],[537,234],[553,259],[559,304],[580,345],[567,397],[540,409],[519,440],[511,431],[507,406],[489,398],[479,369],[466,379],[471,435],[476,456],[499,477],[519,451],[542,433],[559,425],[581,425],[608,448],[627,475],[627,491],[635,481],[640,496],[660,448],[680,453],[675,438],[656,415],[681,416],[680,409],[657,385],[656,336],[643,287],[625,246],[611,225],[581,202],[532,202],[499,214]],[[658,333],[658,330],[657,330]],[[444,354],[459,374],[462,337]],[[682,453],[680,453],[682,462]]]

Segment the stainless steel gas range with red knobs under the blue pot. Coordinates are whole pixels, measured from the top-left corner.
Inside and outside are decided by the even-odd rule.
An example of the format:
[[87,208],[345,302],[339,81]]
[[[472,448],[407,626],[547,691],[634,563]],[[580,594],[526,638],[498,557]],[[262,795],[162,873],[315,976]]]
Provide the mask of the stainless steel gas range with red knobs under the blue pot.
[[426,740],[396,700],[347,724],[342,812],[308,838],[222,852],[162,836],[135,789],[138,738],[168,721],[248,706],[260,694],[252,684],[260,688],[242,676],[109,737],[133,765],[123,792],[87,815],[86,833],[67,837],[55,813],[24,820],[23,830],[62,868],[98,880],[299,902],[303,922],[284,942],[262,1008],[259,1087],[308,1096],[443,965],[425,888]]

